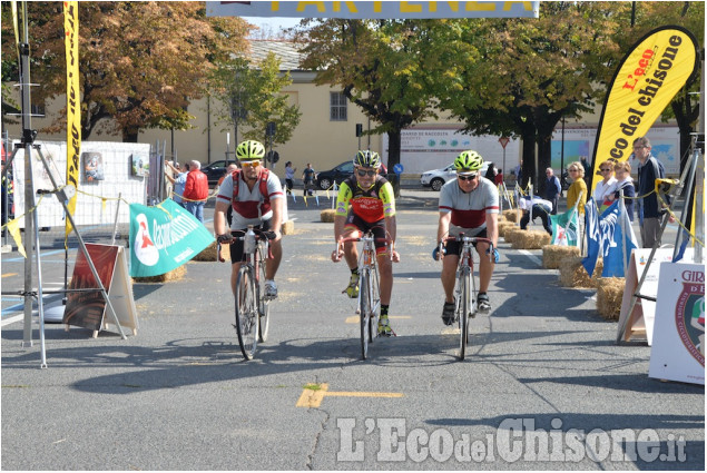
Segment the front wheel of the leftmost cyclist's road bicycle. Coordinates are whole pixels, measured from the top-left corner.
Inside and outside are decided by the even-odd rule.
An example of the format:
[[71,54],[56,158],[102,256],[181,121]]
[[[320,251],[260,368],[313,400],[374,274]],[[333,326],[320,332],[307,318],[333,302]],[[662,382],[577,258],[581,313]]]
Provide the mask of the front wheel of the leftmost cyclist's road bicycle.
[[236,279],[236,332],[246,359],[253,359],[258,342],[258,308],[253,268],[242,266]]

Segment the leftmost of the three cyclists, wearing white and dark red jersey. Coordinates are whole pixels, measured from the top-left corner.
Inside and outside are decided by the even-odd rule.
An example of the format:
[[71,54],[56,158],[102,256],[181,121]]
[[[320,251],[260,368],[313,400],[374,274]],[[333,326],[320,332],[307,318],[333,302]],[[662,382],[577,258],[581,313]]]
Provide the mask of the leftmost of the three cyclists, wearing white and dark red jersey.
[[[265,264],[265,297],[277,297],[275,274],[283,256],[282,250],[282,215],[283,188],[274,173],[263,168],[265,147],[259,141],[243,141],[236,148],[236,158],[243,169],[236,169],[227,176],[216,195],[214,213],[214,230],[219,237],[243,235],[248,225],[263,231],[274,231],[271,242],[273,257]],[[233,208],[230,231],[226,226],[226,213]],[[219,238],[220,239],[220,238]],[[243,260],[243,240],[234,240],[230,245],[230,287],[236,293],[236,277]]]

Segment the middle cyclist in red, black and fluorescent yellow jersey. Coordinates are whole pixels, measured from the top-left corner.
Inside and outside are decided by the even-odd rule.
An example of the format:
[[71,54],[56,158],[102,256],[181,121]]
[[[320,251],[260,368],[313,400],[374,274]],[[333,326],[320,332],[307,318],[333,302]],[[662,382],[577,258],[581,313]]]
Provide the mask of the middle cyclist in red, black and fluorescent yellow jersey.
[[[395,197],[393,186],[383,176],[380,176],[381,157],[375,151],[359,151],[353,160],[354,174],[344,180],[338,189],[336,198],[336,215],[334,217],[334,238],[343,246],[346,264],[351,269],[351,279],[345,292],[351,298],[359,296],[359,249],[355,243],[342,243],[344,234],[354,231],[366,233],[372,230],[373,236],[390,238],[395,242]],[[351,204],[351,208],[350,205]],[[385,242],[375,242],[379,270],[381,276],[381,317],[379,319],[379,336],[394,335],[387,321],[387,309],[393,290],[393,265],[400,260],[400,255]],[[338,253],[338,254],[337,254]],[[332,253],[334,263],[341,260],[341,252]]]

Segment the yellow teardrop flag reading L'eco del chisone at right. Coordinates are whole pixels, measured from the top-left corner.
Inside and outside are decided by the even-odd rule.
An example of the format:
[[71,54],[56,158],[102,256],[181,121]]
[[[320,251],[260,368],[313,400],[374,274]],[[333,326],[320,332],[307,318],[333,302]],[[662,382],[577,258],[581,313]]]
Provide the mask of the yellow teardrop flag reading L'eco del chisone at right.
[[[646,136],[662,110],[697,70],[697,41],[685,28],[666,26],[646,35],[626,55],[599,120],[593,169],[609,158],[625,161],[634,140]],[[593,188],[601,180],[592,176]]]

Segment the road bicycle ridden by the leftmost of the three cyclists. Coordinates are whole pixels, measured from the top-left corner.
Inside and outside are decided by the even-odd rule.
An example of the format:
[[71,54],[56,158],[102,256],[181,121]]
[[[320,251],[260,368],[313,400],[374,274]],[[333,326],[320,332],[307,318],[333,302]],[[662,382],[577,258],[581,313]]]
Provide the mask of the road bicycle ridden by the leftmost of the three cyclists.
[[[265,260],[272,257],[269,240],[274,231],[262,231],[248,225],[246,231],[222,235],[220,243],[243,242],[243,264],[236,276],[236,332],[238,345],[246,359],[253,359],[258,342],[267,341],[269,302],[265,296]],[[219,250],[220,254],[220,250]]]

